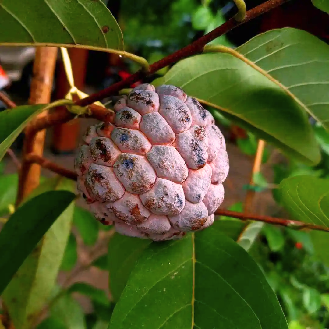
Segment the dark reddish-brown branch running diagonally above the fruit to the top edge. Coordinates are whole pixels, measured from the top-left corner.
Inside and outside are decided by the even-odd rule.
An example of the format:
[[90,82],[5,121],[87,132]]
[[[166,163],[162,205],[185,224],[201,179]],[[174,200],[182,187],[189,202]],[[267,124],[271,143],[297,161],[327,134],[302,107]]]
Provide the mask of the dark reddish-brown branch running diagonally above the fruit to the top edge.
[[137,82],[138,80],[140,80],[141,78],[143,78],[145,76],[148,76],[148,75],[151,75],[151,74],[157,72],[158,70],[160,70],[170,64],[176,63],[183,58],[202,53],[203,47],[210,41],[222,36],[223,34],[231,31],[235,27],[248,22],[251,19],[253,19],[259,15],[266,13],[275,7],[280,6],[281,4],[283,4],[286,1],[287,0],[266,1],[263,4],[247,11],[245,19],[241,22],[236,21],[233,17],[233,18],[229,19],[228,21],[226,21],[224,24],[215,28],[213,31],[207,33],[203,37],[192,42],[188,46],[174,52],[173,54],[171,54],[169,56],[164,57],[163,59],[161,59],[158,62],[153,63],[152,65],[150,65],[147,72],[145,72],[145,71],[143,71],[143,69],[141,69],[138,72],[136,72],[135,74],[128,77],[127,79],[117,82],[114,85],[112,85],[106,89],[103,89],[97,93],[94,93],[94,94],[86,97],[86,98],[83,98],[83,99],[77,101],[76,104],[80,105],[80,106],[86,106],[88,104],[102,100],[108,96],[114,95],[119,90],[133,84],[134,82]]

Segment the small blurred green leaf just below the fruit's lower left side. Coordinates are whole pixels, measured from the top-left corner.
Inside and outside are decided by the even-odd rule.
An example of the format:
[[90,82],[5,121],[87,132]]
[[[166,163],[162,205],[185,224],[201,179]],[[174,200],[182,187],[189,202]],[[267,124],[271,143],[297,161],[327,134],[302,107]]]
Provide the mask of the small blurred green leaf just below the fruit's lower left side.
[[75,207],[73,225],[77,227],[85,244],[95,244],[98,238],[98,221],[88,210]]

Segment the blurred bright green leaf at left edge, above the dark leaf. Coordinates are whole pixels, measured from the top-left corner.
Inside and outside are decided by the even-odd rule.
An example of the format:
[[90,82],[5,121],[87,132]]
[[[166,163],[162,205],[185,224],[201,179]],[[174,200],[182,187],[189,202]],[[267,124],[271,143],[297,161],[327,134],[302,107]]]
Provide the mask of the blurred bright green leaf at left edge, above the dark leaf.
[[15,204],[18,186],[18,175],[0,177],[0,214],[8,214],[8,206]]

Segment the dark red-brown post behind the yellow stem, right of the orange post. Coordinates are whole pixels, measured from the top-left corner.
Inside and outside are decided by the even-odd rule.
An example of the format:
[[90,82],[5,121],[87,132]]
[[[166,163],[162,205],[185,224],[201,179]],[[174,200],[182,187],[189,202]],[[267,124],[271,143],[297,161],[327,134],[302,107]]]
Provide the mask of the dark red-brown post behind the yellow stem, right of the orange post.
[[[70,48],[68,53],[71,59],[72,71],[75,86],[82,90],[86,78],[86,66],[88,59],[88,50]],[[59,64],[58,77],[56,79],[56,99],[63,98],[70,87],[66,79],[64,65]],[[77,147],[77,139],[80,131],[79,119],[74,119],[68,123],[56,125],[53,128],[52,150],[54,153],[71,153]]]

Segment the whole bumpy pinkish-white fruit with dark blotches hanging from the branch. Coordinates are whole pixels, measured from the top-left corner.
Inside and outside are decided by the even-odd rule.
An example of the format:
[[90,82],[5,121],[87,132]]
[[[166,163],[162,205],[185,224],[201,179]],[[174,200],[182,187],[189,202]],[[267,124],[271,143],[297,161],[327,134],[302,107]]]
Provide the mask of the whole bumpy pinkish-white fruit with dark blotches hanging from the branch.
[[78,190],[118,233],[179,239],[214,222],[229,170],[213,116],[175,86],[142,84],[89,127],[75,159]]

